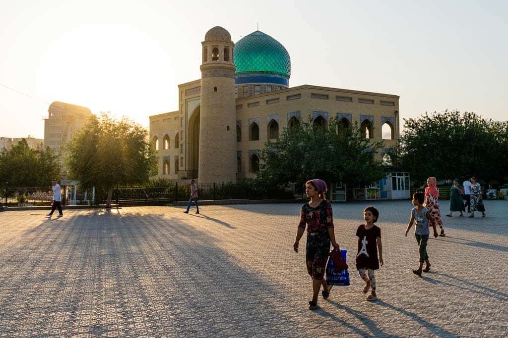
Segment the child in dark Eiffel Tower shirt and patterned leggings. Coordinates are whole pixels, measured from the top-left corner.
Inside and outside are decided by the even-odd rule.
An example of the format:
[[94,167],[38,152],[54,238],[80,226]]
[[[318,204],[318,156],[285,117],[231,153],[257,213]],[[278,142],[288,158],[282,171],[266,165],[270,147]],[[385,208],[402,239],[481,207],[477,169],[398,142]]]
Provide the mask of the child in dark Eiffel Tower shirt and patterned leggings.
[[[356,230],[358,237],[358,253],[356,255],[356,268],[360,277],[365,281],[363,293],[369,292],[367,301],[375,301],[376,295],[376,277],[375,270],[379,269],[379,263],[383,266],[383,246],[381,244],[381,229],[374,223],[379,218],[379,211],[370,206],[363,210],[363,219],[365,224],[361,224]],[[377,252],[379,250],[379,258]]]

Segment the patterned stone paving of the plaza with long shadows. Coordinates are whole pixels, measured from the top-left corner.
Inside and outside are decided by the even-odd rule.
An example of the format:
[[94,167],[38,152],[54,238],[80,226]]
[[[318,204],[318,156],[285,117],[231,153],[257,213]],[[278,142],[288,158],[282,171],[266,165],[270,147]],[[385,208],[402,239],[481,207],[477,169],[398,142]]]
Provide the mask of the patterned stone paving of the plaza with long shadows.
[[[333,204],[352,267],[367,204]],[[0,336],[508,335],[508,202],[487,201],[486,218],[443,217],[447,237],[429,240],[423,277],[404,237],[409,201],[371,204],[379,301],[364,301],[350,269],[352,285],[317,311],[305,250],[292,249],[299,204],[0,213]]]

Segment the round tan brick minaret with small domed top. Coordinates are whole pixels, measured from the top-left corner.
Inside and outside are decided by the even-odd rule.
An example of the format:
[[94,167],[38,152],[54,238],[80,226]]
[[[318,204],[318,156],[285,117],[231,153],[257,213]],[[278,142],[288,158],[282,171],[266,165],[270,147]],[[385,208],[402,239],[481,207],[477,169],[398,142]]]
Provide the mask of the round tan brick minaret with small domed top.
[[199,183],[236,181],[235,64],[230,33],[213,27],[205,35],[201,64]]

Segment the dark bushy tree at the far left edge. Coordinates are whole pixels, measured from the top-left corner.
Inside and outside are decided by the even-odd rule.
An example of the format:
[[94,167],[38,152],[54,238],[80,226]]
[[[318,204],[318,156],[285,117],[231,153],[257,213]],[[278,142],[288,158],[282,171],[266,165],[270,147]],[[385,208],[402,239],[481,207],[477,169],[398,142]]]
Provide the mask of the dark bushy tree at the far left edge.
[[25,139],[0,154],[0,179],[15,187],[43,187],[60,173],[60,164],[48,147],[32,149]]

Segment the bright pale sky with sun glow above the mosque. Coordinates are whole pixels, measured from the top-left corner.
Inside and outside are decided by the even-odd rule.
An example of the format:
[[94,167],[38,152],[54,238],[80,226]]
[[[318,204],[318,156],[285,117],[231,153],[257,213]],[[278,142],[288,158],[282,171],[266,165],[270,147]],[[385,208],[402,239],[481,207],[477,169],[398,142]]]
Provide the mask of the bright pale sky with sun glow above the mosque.
[[291,87],[400,95],[403,118],[507,120],[506,1],[0,0],[0,136],[43,138],[52,101],[148,126],[200,78],[209,28],[236,42],[258,22],[289,51]]

